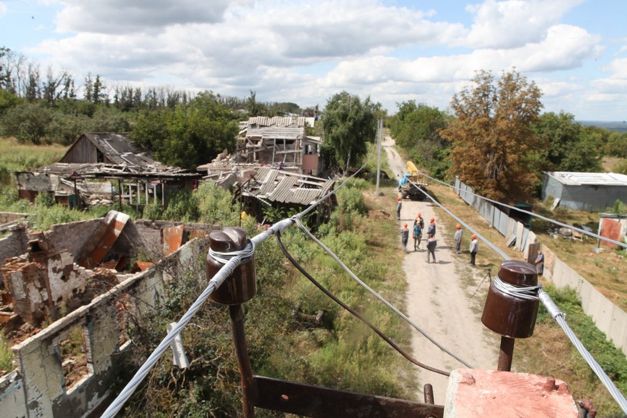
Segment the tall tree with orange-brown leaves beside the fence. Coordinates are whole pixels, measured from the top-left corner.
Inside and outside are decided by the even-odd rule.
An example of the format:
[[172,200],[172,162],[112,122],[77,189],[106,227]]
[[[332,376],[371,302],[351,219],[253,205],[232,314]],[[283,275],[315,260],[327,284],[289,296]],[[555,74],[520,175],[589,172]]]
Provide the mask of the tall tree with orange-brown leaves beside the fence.
[[453,96],[456,120],[440,131],[452,144],[449,174],[491,199],[529,199],[538,181],[532,153],[543,147],[533,131],[540,88],[516,70],[504,72],[496,84],[481,70],[472,82],[473,88]]

